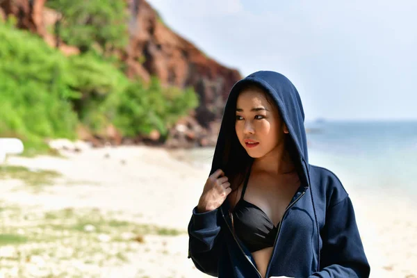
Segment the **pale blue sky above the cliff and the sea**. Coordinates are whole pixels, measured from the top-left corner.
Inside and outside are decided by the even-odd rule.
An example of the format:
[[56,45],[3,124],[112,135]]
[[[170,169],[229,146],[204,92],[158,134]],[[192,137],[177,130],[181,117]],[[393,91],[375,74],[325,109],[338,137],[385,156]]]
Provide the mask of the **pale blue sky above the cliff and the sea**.
[[293,81],[306,120],[417,120],[417,1],[148,0],[243,76]]

